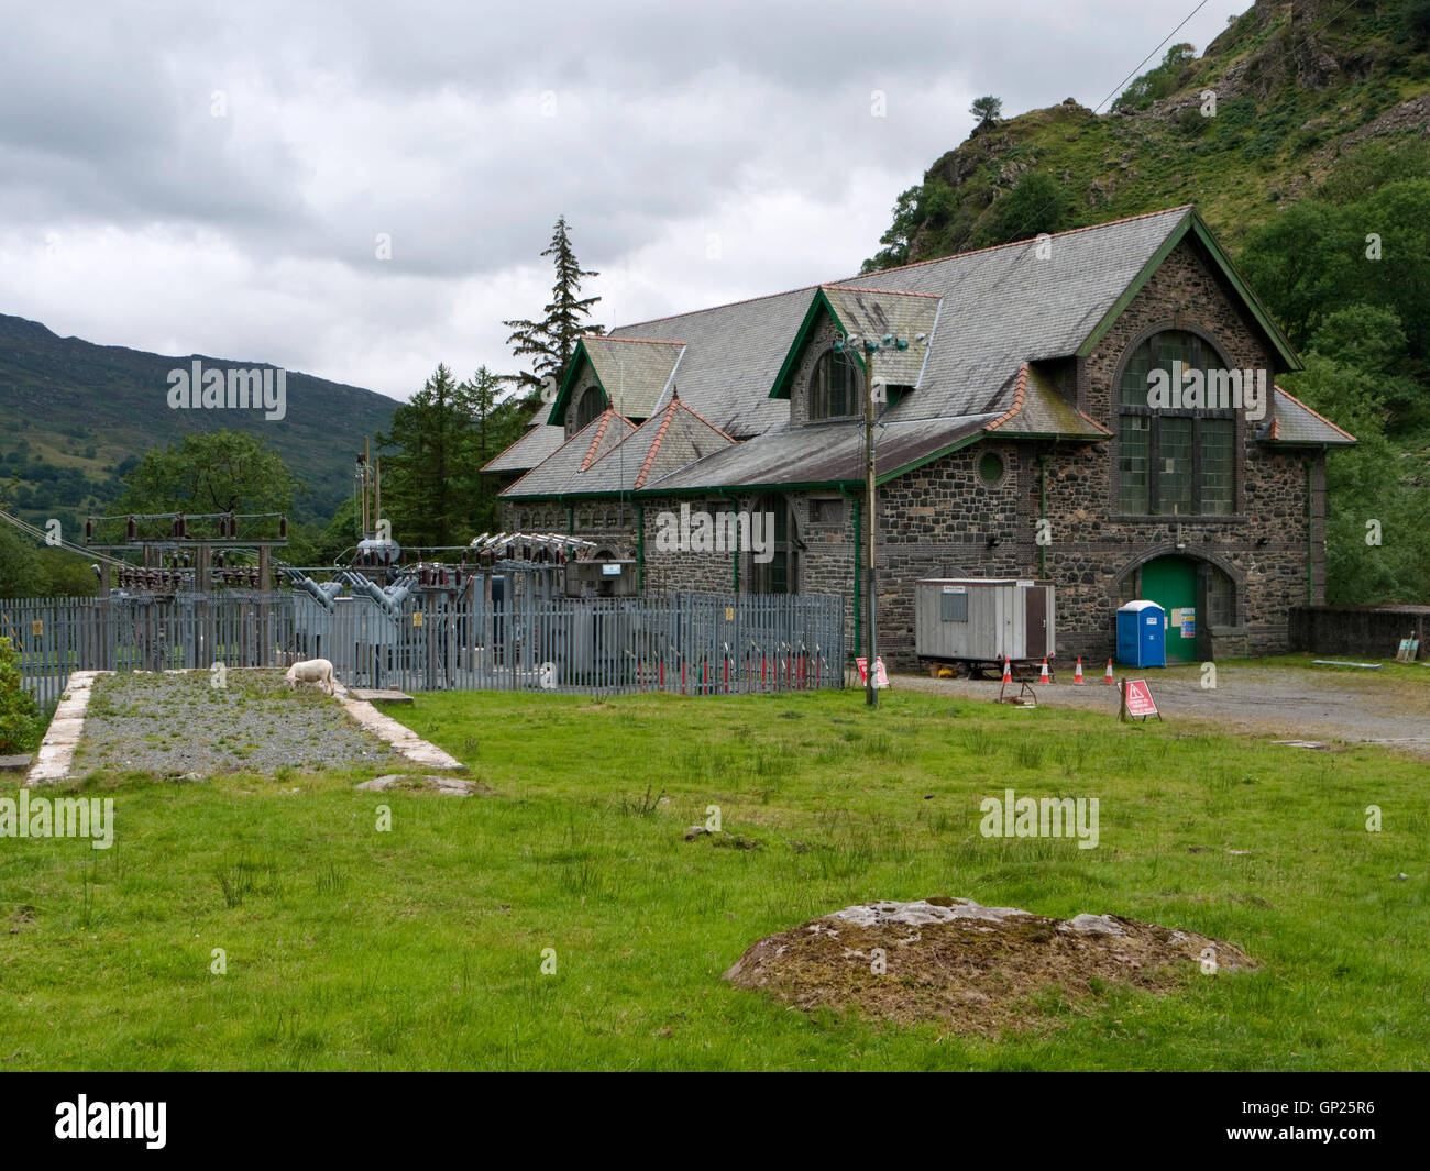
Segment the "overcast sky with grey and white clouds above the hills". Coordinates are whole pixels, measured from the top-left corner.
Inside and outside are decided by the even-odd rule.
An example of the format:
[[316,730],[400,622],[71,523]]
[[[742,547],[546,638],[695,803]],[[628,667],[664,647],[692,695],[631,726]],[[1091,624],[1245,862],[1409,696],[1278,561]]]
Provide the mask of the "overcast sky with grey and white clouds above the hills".
[[0,4],[0,313],[408,397],[516,369],[556,216],[606,326],[849,276],[974,97],[1098,107],[1197,0]]

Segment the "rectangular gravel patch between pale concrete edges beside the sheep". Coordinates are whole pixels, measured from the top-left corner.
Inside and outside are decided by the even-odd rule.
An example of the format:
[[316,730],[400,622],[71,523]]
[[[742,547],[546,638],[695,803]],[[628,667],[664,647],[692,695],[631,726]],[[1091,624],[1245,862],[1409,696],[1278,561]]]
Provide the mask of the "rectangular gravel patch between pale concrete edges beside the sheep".
[[94,683],[74,771],[139,769],[159,776],[272,774],[283,765],[403,764],[316,688],[290,692],[280,671],[103,675]]

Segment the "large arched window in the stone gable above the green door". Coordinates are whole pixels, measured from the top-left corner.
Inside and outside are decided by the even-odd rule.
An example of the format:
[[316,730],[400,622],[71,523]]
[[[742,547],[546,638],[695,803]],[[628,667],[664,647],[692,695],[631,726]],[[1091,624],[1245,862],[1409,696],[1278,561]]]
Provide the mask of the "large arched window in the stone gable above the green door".
[[[1177,363],[1177,365],[1174,365]],[[1151,406],[1153,372],[1226,369],[1204,337],[1168,329],[1137,346],[1117,386],[1120,510],[1137,516],[1228,513],[1236,502],[1237,419],[1230,409]]]

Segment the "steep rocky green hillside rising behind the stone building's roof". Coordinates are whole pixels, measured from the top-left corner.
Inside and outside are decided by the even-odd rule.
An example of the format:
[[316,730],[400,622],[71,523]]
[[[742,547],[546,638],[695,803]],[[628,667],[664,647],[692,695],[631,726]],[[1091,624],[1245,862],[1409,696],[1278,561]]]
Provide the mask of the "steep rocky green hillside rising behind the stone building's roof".
[[1347,150],[1426,139],[1430,3],[1257,0],[1201,57],[1173,46],[1108,104],[1070,97],[975,129],[901,196],[865,269],[1180,203],[1236,250]]

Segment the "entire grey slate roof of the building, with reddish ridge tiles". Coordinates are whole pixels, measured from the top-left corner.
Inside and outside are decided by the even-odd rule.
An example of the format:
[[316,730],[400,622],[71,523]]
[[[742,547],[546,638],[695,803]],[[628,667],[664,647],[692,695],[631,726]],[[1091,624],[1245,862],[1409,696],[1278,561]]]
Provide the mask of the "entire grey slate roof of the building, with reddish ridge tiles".
[[[927,346],[884,350],[877,359],[882,380],[915,387],[881,416],[879,469],[918,463],[985,428],[1008,438],[1105,439],[1108,432],[1062,397],[1038,363],[1093,346],[1153,262],[1191,229],[1203,230],[1194,209],[1173,207],[1061,232],[1044,242],[864,273],[583,339],[602,386],[623,415],[656,416],[678,387],[682,405],[702,422],[742,440],[695,452],[696,459],[682,469],[668,469],[678,450],[672,445],[652,463],[644,486],[626,490],[861,479],[859,443],[851,438],[859,432],[858,420],[792,429],[788,402],[771,397],[781,390],[781,372],[791,365],[811,312],[824,312],[821,299],[848,332],[928,337]],[[1246,292],[1240,276],[1228,272],[1228,280]],[[1278,363],[1294,367],[1296,356],[1274,323],[1264,313],[1260,319],[1267,322]],[[1266,442],[1354,442],[1281,390],[1274,412]],[[664,446],[646,435],[651,450]],[[628,453],[636,450],[626,446]],[[551,479],[523,480],[503,495],[532,495],[536,486],[548,492]],[[626,485],[633,478],[618,460],[589,480],[598,482]],[[581,489],[563,482],[562,490]]]

